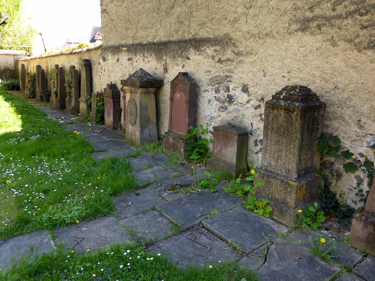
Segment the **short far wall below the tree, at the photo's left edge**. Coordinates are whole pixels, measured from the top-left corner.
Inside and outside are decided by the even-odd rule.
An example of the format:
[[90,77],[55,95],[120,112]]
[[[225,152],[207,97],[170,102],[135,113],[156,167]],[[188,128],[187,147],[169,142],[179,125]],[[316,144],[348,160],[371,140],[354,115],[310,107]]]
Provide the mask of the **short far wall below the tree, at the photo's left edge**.
[[18,79],[17,60],[19,58],[23,58],[24,56],[25,51],[0,50],[0,79]]

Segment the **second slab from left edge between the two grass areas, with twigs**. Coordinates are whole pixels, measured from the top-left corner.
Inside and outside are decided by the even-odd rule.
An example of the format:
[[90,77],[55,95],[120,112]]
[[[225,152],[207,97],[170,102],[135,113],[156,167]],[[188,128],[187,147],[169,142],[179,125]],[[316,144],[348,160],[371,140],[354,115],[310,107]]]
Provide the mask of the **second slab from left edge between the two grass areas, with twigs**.
[[68,249],[86,253],[87,249],[101,250],[111,244],[129,242],[130,239],[119,220],[105,216],[59,228],[55,242],[69,244]]

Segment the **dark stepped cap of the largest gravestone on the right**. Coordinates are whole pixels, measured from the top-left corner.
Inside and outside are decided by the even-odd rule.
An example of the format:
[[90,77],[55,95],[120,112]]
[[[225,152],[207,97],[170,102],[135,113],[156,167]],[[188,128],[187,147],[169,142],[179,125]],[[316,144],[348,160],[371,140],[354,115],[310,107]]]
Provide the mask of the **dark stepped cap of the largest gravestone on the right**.
[[308,102],[319,100],[319,96],[307,86],[288,85],[272,95],[272,99],[291,102]]

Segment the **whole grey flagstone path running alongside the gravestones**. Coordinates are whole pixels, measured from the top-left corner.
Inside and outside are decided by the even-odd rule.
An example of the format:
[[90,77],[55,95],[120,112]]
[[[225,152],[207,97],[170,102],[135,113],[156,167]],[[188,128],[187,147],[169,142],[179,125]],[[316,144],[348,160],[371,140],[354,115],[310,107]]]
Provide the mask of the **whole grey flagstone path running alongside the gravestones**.
[[[87,124],[72,115],[51,106],[35,105],[49,115],[47,118],[58,120],[66,130],[81,132],[96,149],[93,158],[97,161],[136,151],[135,146],[123,141],[120,131],[104,126],[90,126],[92,130],[88,130]],[[37,253],[46,253],[52,251],[56,243],[63,242],[70,244],[70,249],[86,253],[89,248],[99,250],[134,239],[152,239],[148,251],[164,253],[180,266],[237,262],[256,270],[264,280],[278,281],[330,280],[341,271],[340,267],[306,250],[308,237],[315,238],[316,232],[287,233],[285,226],[244,208],[239,197],[223,191],[223,183],[216,193],[205,189],[187,194],[184,190],[194,184],[189,165],[171,164],[164,154],[143,154],[129,158],[129,162],[144,188],[115,197],[114,216],[61,227],[54,239],[43,230],[0,241],[0,266],[9,267],[12,256],[17,262],[17,257],[26,254],[29,246],[36,247]],[[199,169],[195,172],[197,181],[203,173]],[[210,217],[213,209],[220,213]],[[242,253],[229,247],[228,241],[242,247]],[[362,253],[342,243],[337,243],[335,252],[341,256],[334,264],[354,266],[353,272],[336,280],[375,280],[374,257],[363,257]]]

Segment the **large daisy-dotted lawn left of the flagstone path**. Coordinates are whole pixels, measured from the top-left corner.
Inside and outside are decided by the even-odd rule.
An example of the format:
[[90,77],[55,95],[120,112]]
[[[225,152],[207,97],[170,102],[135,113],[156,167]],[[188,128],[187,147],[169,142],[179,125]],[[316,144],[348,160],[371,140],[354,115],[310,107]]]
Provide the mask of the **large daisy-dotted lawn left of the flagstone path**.
[[136,190],[125,159],[95,162],[93,147],[0,91],[0,240],[110,214],[112,196]]

